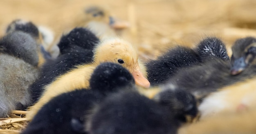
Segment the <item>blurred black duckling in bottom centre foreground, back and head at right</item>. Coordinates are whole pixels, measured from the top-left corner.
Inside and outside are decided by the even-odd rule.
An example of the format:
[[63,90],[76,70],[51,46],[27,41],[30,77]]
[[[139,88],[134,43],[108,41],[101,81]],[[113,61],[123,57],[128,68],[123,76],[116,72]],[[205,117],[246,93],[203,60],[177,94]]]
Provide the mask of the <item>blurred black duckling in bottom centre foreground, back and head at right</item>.
[[175,134],[184,116],[197,114],[193,95],[166,87],[153,99],[137,91],[108,96],[89,115],[89,134]]

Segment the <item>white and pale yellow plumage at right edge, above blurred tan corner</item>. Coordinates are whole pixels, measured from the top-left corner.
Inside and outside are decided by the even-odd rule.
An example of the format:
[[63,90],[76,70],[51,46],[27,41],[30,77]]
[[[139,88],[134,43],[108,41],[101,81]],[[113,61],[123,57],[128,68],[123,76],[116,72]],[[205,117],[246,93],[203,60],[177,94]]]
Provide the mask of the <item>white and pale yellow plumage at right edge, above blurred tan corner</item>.
[[234,113],[240,105],[249,108],[256,107],[256,78],[248,79],[231,86],[224,87],[218,92],[205,98],[199,106],[201,118],[218,115],[222,112]]

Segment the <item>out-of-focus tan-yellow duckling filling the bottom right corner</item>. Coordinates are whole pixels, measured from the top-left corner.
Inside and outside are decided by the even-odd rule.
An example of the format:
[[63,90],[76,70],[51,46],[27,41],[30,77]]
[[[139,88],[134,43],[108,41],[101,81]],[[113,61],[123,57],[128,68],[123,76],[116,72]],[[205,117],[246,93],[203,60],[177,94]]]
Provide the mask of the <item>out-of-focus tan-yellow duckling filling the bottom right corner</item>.
[[185,125],[178,134],[255,134],[256,109],[225,113]]

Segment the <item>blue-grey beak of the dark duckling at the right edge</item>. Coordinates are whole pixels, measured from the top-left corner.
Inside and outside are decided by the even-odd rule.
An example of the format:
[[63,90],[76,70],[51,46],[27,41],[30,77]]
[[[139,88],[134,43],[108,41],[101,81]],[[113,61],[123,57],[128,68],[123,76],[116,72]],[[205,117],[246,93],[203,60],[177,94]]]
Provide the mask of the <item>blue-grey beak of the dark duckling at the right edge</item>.
[[240,74],[247,67],[247,65],[248,64],[245,62],[245,57],[240,57],[234,60],[234,64],[231,67],[230,74],[231,75]]

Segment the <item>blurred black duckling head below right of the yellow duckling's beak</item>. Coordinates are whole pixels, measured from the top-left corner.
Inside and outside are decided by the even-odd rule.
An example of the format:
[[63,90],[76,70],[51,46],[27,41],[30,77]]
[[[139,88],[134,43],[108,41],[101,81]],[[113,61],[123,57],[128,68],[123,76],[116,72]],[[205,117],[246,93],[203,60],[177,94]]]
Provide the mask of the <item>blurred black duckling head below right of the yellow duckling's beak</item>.
[[193,119],[198,115],[195,96],[190,92],[171,83],[160,86],[160,89],[153,100],[169,108],[179,121],[186,122],[187,119]]

